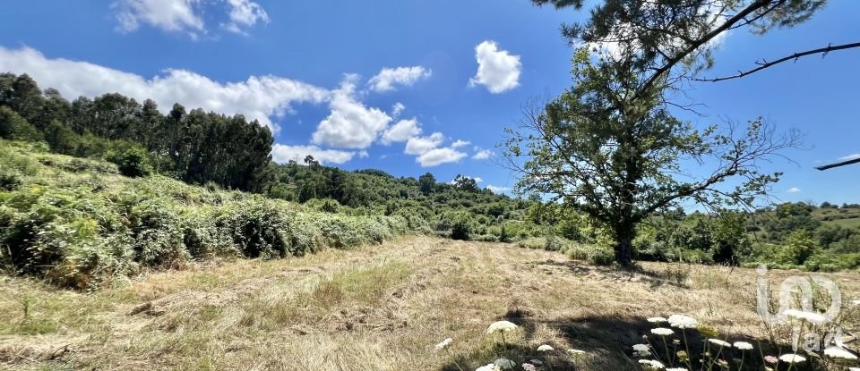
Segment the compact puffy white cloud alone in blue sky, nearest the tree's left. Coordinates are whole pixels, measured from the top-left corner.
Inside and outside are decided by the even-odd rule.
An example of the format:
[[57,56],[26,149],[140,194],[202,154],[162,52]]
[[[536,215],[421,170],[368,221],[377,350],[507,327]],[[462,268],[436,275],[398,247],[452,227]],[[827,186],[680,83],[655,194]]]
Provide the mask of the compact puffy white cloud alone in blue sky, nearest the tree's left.
[[498,94],[520,85],[520,55],[499,50],[495,41],[486,40],[475,47],[477,74],[469,86],[485,85],[490,93]]

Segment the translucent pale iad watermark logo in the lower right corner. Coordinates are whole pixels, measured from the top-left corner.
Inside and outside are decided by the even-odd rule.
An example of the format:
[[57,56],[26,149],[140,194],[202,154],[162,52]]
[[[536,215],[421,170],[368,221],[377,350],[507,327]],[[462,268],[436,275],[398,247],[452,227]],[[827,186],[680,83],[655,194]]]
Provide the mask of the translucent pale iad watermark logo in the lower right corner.
[[[789,276],[779,284],[778,308],[771,313],[774,286],[768,278],[767,266],[759,266],[756,274],[756,310],[767,325],[791,325],[793,350],[802,346],[806,351],[820,351],[821,344],[842,345],[842,328],[834,322],[842,309],[842,293],[836,282],[821,275]],[[826,293],[820,295],[821,299],[830,299],[830,306],[823,313],[816,310],[816,292]],[[817,304],[822,308],[821,302]],[[804,327],[804,323],[811,325]],[[804,328],[809,332],[802,333]]]

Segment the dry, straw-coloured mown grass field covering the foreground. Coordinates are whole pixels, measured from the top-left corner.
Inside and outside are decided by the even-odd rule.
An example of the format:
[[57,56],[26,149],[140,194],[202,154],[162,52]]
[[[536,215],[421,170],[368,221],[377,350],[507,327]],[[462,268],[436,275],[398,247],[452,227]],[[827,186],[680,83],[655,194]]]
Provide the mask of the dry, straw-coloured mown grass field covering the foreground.
[[[773,276],[787,276],[779,272]],[[846,301],[856,274],[828,274]],[[486,326],[523,329],[534,349],[589,351],[580,369],[632,369],[648,316],[685,313],[735,338],[761,337],[755,272],[587,266],[513,245],[410,237],[278,261],[149,274],[95,293],[0,277],[0,367],[14,369],[468,369],[494,359]],[[27,315],[24,316],[24,308]],[[446,337],[451,355],[435,353]],[[565,360],[546,357],[564,369]]]

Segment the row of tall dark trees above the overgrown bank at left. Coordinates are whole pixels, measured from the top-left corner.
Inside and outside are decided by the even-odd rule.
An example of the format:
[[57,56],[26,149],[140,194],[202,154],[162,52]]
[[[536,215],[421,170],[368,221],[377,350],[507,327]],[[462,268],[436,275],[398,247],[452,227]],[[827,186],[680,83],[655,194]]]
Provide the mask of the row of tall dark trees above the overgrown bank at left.
[[151,172],[236,190],[261,190],[271,160],[269,128],[241,114],[190,112],[176,103],[161,114],[110,93],[72,102],[56,89],[39,89],[27,74],[0,74],[0,137],[45,141],[56,153],[104,157],[126,175]]

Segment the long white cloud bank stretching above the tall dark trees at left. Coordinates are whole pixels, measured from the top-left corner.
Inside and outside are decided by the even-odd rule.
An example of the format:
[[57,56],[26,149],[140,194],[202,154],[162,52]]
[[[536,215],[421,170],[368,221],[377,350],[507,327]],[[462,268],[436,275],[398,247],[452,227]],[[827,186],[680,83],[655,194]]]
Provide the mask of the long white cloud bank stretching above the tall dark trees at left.
[[178,102],[189,109],[244,114],[248,120],[258,120],[274,130],[277,127],[270,117],[287,114],[290,105],[322,103],[331,97],[327,89],[271,75],[222,84],[194,72],[168,69],[147,80],[98,64],[49,59],[29,47],[9,50],[0,46],[0,71],[28,73],[40,87],[55,88],[70,99],[118,92],[139,102],[151,98],[162,112]]

